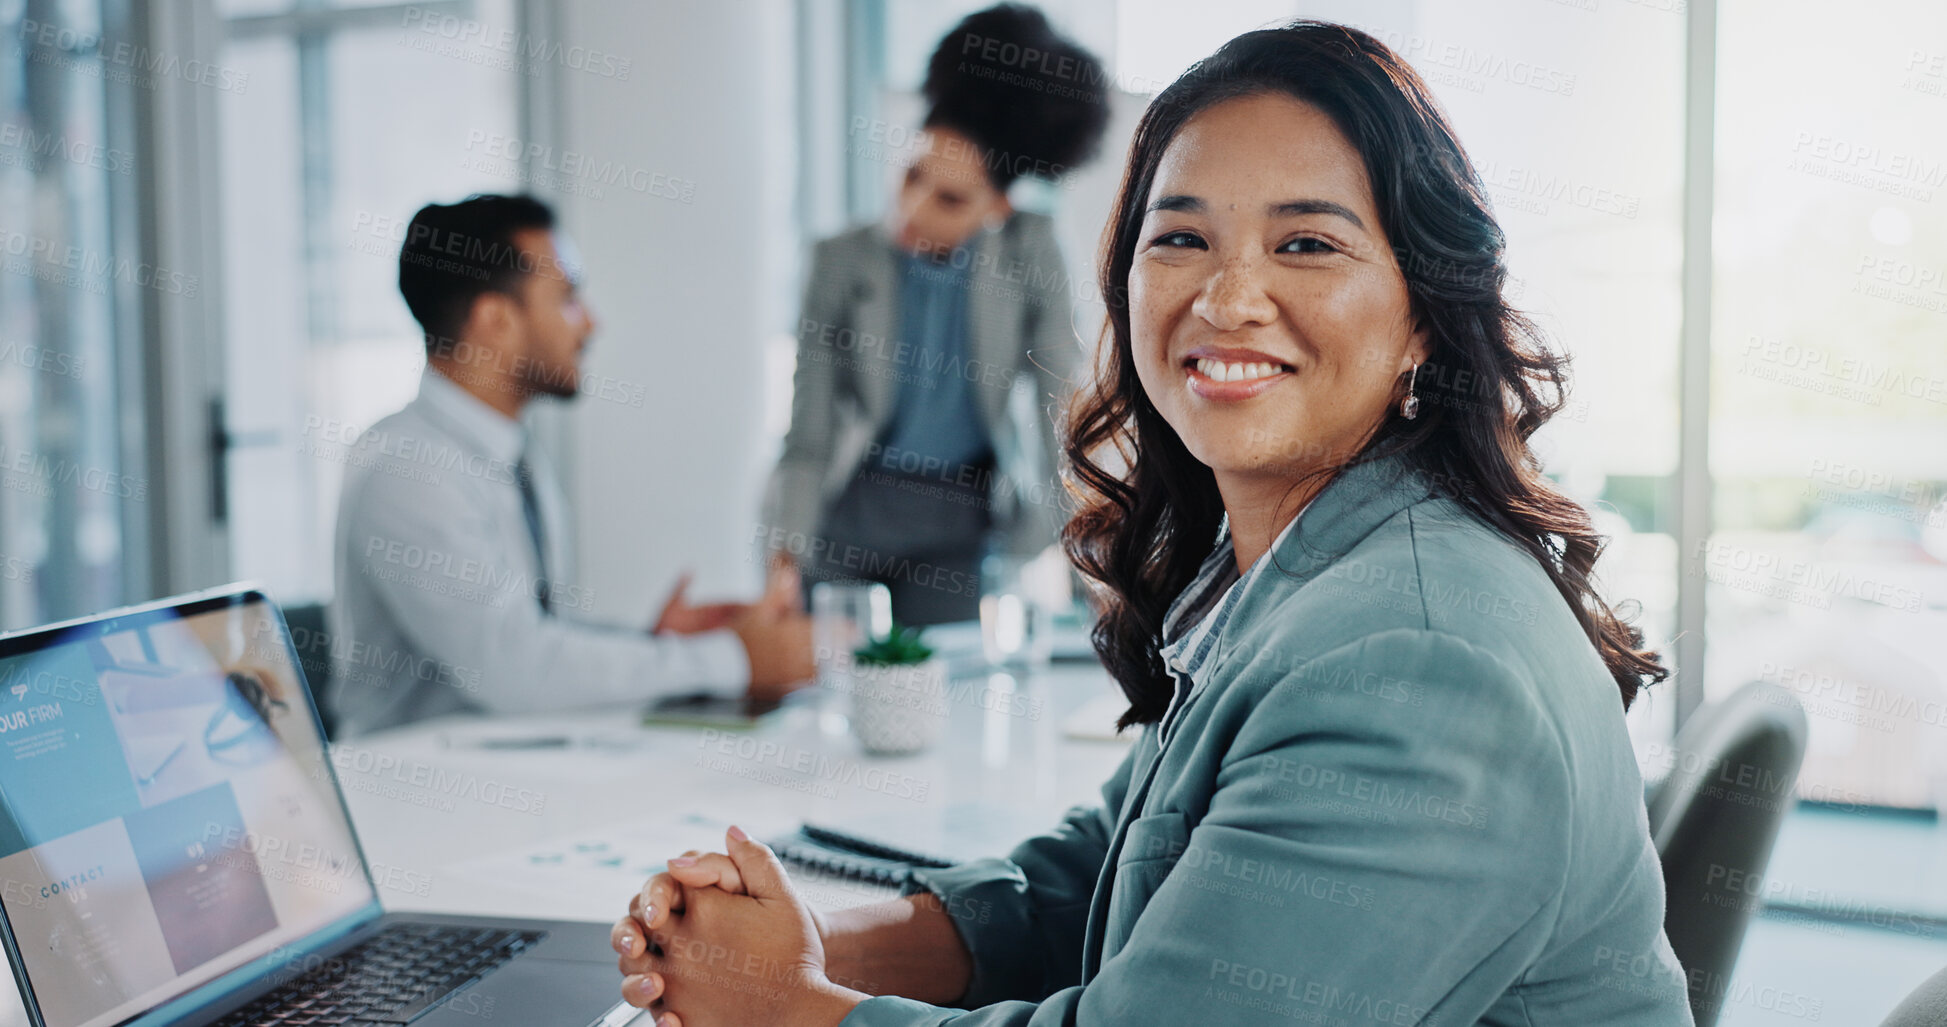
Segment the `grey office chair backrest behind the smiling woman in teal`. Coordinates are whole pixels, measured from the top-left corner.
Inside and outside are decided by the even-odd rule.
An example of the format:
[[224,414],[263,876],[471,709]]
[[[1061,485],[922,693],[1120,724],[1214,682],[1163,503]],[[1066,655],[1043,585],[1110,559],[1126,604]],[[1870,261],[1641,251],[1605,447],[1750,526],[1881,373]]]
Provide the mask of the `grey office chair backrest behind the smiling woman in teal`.
[[1791,692],[1750,682],[1690,715],[1676,733],[1676,766],[1649,795],[1669,896],[1663,930],[1688,976],[1696,1027],[1717,1023],[1745,928],[1762,906],[1805,731]]

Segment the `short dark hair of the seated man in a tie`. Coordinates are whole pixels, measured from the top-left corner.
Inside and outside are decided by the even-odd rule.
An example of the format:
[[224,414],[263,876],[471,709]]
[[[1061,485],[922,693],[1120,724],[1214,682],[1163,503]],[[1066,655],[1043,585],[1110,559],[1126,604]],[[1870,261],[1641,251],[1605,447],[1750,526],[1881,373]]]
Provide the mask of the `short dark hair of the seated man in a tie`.
[[475,193],[413,214],[399,247],[399,294],[426,333],[428,355],[454,345],[481,294],[518,296],[522,277],[547,271],[514,234],[553,226],[555,212],[530,195]]

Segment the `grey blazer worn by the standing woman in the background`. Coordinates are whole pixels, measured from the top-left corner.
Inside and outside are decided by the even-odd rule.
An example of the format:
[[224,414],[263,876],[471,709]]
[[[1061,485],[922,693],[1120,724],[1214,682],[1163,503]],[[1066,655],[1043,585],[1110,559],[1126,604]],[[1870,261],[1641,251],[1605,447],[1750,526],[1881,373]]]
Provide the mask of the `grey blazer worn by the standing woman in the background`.
[[[1069,273],[1044,214],[1018,212],[968,249],[972,361],[956,370],[974,382],[995,446],[989,495],[1001,546],[1032,553],[1055,540],[1065,514],[1055,419],[1081,362]],[[900,384],[929,370],[900,339],[898,257],[876,224],[812,251],[790,431],[763,503],[771,548],[802,552],[892,421]]]

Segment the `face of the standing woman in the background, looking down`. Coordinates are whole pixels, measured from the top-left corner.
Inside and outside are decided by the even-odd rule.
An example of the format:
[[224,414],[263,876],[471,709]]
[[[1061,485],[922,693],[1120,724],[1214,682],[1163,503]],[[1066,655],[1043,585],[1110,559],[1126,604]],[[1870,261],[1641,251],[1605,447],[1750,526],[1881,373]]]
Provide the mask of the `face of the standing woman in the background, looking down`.
[[1012,212],[993,187],[983,150],[952,129],[927,129],[905,168],[892,210],[892,236],[907,253],[946,253],[989,220]]

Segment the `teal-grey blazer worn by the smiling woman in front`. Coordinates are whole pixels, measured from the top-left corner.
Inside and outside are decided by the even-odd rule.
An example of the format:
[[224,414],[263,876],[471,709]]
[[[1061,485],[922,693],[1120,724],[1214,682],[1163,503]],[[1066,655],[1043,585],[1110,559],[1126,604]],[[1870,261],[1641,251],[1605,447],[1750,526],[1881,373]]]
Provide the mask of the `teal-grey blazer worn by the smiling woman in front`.
[[974,953],[845,1027],[1690,1023],[1616,684],[1542,567],[1340,475],[1102,789],[923,871]]

